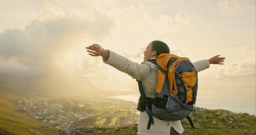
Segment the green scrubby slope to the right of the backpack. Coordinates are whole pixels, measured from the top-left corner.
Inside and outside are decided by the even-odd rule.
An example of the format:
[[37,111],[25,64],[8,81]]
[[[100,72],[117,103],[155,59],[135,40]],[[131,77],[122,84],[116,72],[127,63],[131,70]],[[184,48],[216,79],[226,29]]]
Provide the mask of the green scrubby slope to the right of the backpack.
[[[195,117],[196,116],[196,117]],[[185,132],[183,134],[255,134],[256,117],[247,113],[232,113],[217,109],[196,111],[191,115],[195,129],[190,127],[187,119],[182,120]],[[195,120],[196,119],[196,120]]]

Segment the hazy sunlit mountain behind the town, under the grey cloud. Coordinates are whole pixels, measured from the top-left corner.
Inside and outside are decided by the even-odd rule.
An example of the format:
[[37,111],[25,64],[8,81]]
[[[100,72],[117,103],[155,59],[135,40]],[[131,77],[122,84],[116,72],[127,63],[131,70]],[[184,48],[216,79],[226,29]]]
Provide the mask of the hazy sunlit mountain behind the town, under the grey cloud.
[[108,97],[125,92],[114,92],[99,89],[83,75],[64,75],[60,73],[48,73],[39,75],[28,74],[0,74],[0,80],[7,82],[21,93],[36,93],[52,96],[90,96]]

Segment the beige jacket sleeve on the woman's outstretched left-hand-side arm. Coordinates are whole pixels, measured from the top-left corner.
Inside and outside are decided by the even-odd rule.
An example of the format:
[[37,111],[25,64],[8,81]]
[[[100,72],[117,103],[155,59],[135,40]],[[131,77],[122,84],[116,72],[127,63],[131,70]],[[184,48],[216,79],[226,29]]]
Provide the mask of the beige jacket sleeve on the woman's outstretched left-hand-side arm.
[[147,62],[144,62],[144,64],[138,64],[137,62],[128,60],[127,58],[120,56],[113,51],[107,51],[109,51],[109,59],[107,61],[103,59],[104,63],[113,66],[119,71],[127,73],[137,80],[146,78],[152,69],[150,64],[147,64]]

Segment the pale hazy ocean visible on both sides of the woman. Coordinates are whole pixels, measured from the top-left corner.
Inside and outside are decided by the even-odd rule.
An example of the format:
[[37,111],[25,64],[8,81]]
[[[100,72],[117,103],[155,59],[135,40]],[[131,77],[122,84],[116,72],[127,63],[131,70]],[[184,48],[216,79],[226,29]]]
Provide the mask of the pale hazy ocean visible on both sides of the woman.
[[[242,93],[244,94],[244,93]],[[242,95],[241,93],[237,95]],[[138,102],[140,93],[114,96],[110,98],[122,99],[127,101]],[[255,115],[255,91],[246,93],[244,98],[239,96],[227,96],[227,95],[214,95],[213,93],[200,93],[197,94],[196,106],[206,109],[224,109],[232,111],[233,113],[248,113]]]

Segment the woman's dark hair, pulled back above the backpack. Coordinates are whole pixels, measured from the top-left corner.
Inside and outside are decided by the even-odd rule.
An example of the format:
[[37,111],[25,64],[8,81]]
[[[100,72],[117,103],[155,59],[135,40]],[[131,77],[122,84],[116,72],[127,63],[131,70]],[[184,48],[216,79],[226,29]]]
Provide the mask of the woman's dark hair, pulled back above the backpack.
[[161,53],[170,53],[170,49],[166,43],[160,40],[154,40],[152,43],[152,51],[156,51],[156,55],[161,55]]

